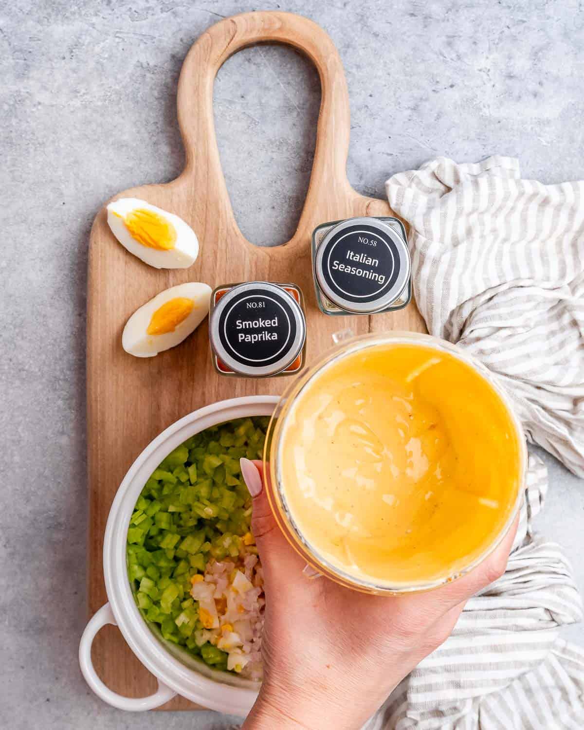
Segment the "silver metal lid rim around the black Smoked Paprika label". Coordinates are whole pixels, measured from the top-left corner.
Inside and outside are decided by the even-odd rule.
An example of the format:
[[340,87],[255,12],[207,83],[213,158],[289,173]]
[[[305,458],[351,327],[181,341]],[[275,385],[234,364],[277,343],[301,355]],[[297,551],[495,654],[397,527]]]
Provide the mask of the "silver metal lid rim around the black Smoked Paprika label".
[[[279,372],[282,372],[289,365],[291,365],[301,353],[302,348],[304,347],[304,342],[306,340],[306,320],[304,318],[304,312],[302,311],[302,308],[298,301],[296,301],[291,293],[285,290],[284,286],[285,285],[273,284],[272,282],[268,281],[252,281],[242,284],[236,284],[233,288],[226,291],[226,293],[223,294],[217,304],[214,305],[209,322],[209,339],[211,347],[212,350],[215,352],[215,355],[221,361],[223,361],[223,363],[229,369],[233,370],[233,372],[236,372],[240,375],[248,375],[251,377],[266,377],[267,375],[275,375]],[[228,353],[226,348],[223,346],[223,343],[221,342],[221,338],[219,336],[220,315],[226,309],[226,307],[228,307],[229,302],[240,293],[245,293],[246,291],[252,292],[257,289],[267,291],[274,294],[275,296],[286,297],[286,301],[291,307],[293,317],[296,322],[296,337],[294,337],[291,346],[288,347],[287,350],[285,350],[283,356],[275,363],[264,366],[242,364]]]

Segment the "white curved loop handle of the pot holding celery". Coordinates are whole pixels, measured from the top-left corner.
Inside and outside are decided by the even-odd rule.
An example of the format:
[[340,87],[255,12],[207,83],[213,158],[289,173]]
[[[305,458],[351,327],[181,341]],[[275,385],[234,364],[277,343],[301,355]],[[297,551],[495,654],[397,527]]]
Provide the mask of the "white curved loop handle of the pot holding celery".
[[[112,626],[118,626],[115,621],[113,611],[110,604],[102,606],[99,611],[93,615],[91,621],[85,626],[81,641],[79,644],[79,666],[81,673],[85,677],[85,682],[91,687],[98,697],[111,704],[112,707],[118,707],[118,710],[130,710],[131,712],[140,712],[141,710],[153,710],[154,707],[160,707],[161,704],[168,702],[176,696],[176,692],[158,680],[158,690],[149,697],[123,697],[120,694],[112,692],[99,679],[97,672],[91,661],[91,645],[97,632],[107,623]],[[158,679],[158,677],[157,677]]]

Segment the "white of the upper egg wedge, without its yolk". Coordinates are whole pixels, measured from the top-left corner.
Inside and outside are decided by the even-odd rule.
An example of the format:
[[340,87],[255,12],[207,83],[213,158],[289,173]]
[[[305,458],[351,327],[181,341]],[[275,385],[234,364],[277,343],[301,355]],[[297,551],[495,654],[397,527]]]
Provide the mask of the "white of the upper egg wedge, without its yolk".
[[[129,212],[137,208],[151,210],[172,223],[177,232],[174,248],[164,251],[149,248],[131,236],[123,219]],[[116,213],[118,215],[115,215]],[[112,233],[124,248],[145,264],[150,264],[156,269],[188,269],[188,266],[191,266],[199,255],[199,239],[188,223],[185,223],[178,215],[166,212],[139,198],[120,198],[110,203],[107,206],[107,225],[110,226]]]

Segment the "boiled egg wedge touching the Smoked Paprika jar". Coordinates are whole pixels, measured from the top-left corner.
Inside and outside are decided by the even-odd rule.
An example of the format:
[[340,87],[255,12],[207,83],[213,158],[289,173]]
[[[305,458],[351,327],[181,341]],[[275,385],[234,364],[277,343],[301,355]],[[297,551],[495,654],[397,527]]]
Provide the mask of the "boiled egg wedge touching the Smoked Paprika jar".
[[151,358],[179,345],[207,316],[210,301],[211,287],[199,282],[161,291],[126,322],[123,349],[137,358]]

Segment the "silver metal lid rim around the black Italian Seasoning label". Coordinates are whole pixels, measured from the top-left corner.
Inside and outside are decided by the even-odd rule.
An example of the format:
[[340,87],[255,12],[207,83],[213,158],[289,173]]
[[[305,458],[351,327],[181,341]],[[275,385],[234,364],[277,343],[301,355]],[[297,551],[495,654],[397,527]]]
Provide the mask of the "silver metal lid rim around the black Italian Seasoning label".
[[[340,231],[343,231],[345,228],[349,228],[350,226],[355,226],[358,223],[371,226],[372,228],[377,228],[380,233],[388,236],[396,246],[399,256],[399,272],[396,282],[387,292],[385,292],[385,294],[374,301],[358,302],[339,296],[338,293],[331,290],[323,275],[323,258],[326,253],[328,242],[330,242],[334,235]],[[410,279],[410,268],[410,250],[408,249],[407,243],[404,239],[397,234],[396,231],[388,225],[388,223],[385,223],[384,220],[367,216],[359,216],[356,218],[341,220],[337,223],[337,225],[332,226],[332,228],[326,232],[323,239],[320,241],[320,244],[318,244],[318,248],[315,253],[314,274],[320,291],[322,291],[327,299],[339,307],[339,309],[347,312],[353,312],[355,314],[374,314],[375,312],[384,310],[385,307],[389,307],[393,301],[398,299]]]

